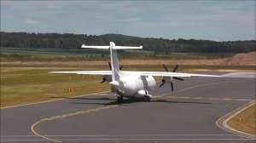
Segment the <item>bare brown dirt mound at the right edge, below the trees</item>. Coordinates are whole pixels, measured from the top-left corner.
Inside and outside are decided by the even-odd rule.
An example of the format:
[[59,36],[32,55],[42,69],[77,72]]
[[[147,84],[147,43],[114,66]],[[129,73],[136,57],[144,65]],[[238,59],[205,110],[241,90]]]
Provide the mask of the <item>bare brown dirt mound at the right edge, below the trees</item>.
[[224,61],[224,65],[256,65],[255,61],[256,52],[250,52],[247,54],[236,54],[228,60]]

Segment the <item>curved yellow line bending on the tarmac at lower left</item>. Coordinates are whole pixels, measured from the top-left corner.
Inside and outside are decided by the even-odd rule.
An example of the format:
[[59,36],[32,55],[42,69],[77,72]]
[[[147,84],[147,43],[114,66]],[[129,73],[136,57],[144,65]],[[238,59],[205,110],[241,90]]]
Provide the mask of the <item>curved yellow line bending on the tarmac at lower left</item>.
[[61,142],[60,140],[53,140],[53,139],[50,139],[50,138],[48,138],[48,137],[46,137],[46,136],[44,136],[42,134],[38,134],[38,132],[36,132],[36,130],[35,130],[35,127],[39,123],[44,123],[44,122],[47,122],[47,121],[52,121],[52,120],[60,119],[60,118],[64,118],[64,117],[73,117],[73,116],[76,116],[76,115],[79,115],[79,114],[85,114],[85,113],[89,113],[89,112],[98,112],[100,110],[114,108],[114,107],[117,107],[117,106],[118,105],[100,106],[100,107],[97,107],[97,108],[92,108],[92,109],[88,109],[88,110],[84,110],[84,111],[80,111],[80,112],[67,113],[67,114],[64,114],[64,115],[61,115],[61,116],[46,117],[46,118],[43,118],[43,119],[39,120],[36,123],[33,123],[32,126],[31,126],[31,131],[32,131],[33,134],[36,134],[39,137],[42,137],[42,138],[44,138],[46,140],[50,140],[50,141],[53,141],[53,142]]

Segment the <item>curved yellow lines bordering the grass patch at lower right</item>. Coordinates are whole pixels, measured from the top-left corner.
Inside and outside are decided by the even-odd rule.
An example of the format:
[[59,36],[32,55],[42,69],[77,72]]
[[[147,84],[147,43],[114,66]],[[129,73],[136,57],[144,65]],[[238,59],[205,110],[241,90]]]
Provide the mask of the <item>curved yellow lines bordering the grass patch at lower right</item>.
[[254,134],[247,134],[245,132],[242,132],[242,131],[239,131],[239,130],[236,130],[236,129],[233,129],[231,128],[227,122],[230,121],[230,119],[232,117],[235,117],[237,114],[239,114],[240,112],[246,110],[248,107],[250,106],[253,106],[255,104],[255,100],[252,100],[250,102],[248,102],[247,104],[243,105],[243,106],[240,106],[239,108],[237,108],[236,110],[232,111],[232,112],[229,112],[227,113],[226,115],[224,115],[224,117],[220,117],[218,118],[218,120],[216,121],[216,125],[218,126],[218,128],[220,129],[224,129],[230,133],[234,133],[234,134],[238,134],[238,135],[241,135],[243,137],[247,137],[247,138],[252,138],[252,139],[255,139],[255,135]]

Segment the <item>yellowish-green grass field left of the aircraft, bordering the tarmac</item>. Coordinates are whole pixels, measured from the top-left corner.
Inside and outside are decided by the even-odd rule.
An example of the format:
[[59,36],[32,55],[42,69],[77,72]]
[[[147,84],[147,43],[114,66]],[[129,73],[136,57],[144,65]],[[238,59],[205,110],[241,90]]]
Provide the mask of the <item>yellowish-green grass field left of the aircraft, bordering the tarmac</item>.
[[[56,70],[65,71],[79,69],[2,67],[1,107],[52,100],[56,97],[90,94],[109,89],[108,83],[100,84],[102,80],[100,76],[84,76],[83,78],[81,75],[48,73],[49,71]],[[67,93],[67,89],[70,88],[73,89],[72,94]]]

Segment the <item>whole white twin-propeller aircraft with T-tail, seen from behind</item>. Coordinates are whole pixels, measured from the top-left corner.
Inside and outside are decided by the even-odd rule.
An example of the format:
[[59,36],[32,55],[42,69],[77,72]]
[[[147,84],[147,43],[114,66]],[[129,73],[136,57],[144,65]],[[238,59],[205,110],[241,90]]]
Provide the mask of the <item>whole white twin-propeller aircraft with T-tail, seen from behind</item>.
[[118,95],[118,101],[122,101],[125,98],[144,98],[146,101],[152,99],[150,94],[155,86],[154,77],[161,76],[162,83],[160,87],[165,83],[171,83],[173,91],[173,79],[182,80],[182,77],[220,77],[216,75],[205,75],[205,74],[192,74],[192,73],[180,73],[176,72],[177,66],[172,72],[131,72],[131,71],[120,71],[122,68],[119,67],[119,61],[116,50],[119,49],[143,49],[143,46],[139,47],[128,47],[128,46],[115,46],[113,42],[110,42],[109,46],[85,46],[82,45],[83,49],[108,49],[110,51],[109,63],[110,71],[72,71],[72,72],[49,72],[49,73],[73,73],[80,75],[102,75],[102,82],[109,82],[111,85],[111,91]]

